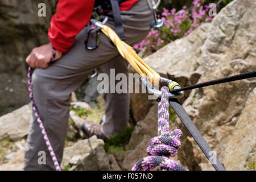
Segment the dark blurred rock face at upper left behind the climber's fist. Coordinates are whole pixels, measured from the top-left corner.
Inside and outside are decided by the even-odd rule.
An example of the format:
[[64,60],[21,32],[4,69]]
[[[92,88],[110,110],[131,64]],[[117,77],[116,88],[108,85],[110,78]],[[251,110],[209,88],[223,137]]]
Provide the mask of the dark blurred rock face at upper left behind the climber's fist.
[[[38,4],[46,4],[46,17]],[[29,102],[25,59],[34,47],[48,43],[53,0],[0,0],[0,115]]]

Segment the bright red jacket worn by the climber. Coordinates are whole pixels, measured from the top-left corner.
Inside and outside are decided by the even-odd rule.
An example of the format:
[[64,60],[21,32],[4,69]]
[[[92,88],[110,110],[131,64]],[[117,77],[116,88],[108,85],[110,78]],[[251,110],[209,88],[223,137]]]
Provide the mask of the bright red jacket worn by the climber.
[[[129,10],[139,0],[127,0],[120,10]],[[67,52],[75,37],[88,23],[92,15],[94,0],[59,0],[57,13],[52,16],[49,40],[60,52]]]

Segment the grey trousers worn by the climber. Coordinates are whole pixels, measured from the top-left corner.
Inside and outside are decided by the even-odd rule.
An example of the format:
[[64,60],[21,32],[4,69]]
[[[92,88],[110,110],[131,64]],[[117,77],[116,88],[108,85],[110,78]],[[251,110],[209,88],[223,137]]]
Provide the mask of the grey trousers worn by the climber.
[[[150,31],[152,11],[146,0],[141,0],[129,10],[121,11],[126,43],[133,45],[141,42]],[[108,26],[114,28],[110,17]],[[32,90],[40,118],[46,128],[46,133],[55,151],[59,163],[63,158],[65,135],[69,119],[69,100],[71,93],[77,89],[93,69],[110,75],[110,69],[115,74],[127,71],[127,61],[118,53],[110,40],[101,33],[100,45],[97,49],[85,49],[85,27],[76,36],[75,43],[60,60],[47,69],[35,69],[32,75]],[[122,131],[127,126],[129,117],[129,94],[105,94],[106,119],[102,124],[106,137]],[[46,152],[46,164],[39,164],[40,151]],[[54,170],[51,155],[47,150],[35,115],[31,117],[30,131],[27,138],[24,159],[24,170]]]

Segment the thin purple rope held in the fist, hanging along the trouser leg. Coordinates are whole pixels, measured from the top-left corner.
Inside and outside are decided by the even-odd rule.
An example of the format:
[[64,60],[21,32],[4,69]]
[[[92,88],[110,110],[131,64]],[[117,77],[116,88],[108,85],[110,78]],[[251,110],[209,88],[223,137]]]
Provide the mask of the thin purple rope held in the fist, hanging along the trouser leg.
[[[51,61],[53,61],[55,59],[55,53],[56,53],[55,49],[52,47]],[[31,80],[32,80],[32,68],[31,67],[28,67],[27,78],[28,78],[28,92],[30,92],[30,99],[31,99],[31,103],[32,103],[32,109],[35,112],[36,121],[39,123],[39,127],[40,127],[40,129],[42,131],[44,141],[46,141],[46,146],[47,146],[48,151],[49,151],[49,153],[50,153],[50,155],[52,157],[52,161],[54,163],[54,166],[55,166],[57,171],[61,171],[60,165],[57,162],[57,158],[56,158],[55,152],[52,149],[51,142],[49,141],[49,138],[48,138],[48,136],[46,134],[46,130],[44,129],[43,122],[42,122],[42,120],[39,117],[38,109],[36,108],[36,105],[35,105],[35,101],[34,101],[34,97],[33,97],[33,92],[32,92],[32,87],[31,87]]]

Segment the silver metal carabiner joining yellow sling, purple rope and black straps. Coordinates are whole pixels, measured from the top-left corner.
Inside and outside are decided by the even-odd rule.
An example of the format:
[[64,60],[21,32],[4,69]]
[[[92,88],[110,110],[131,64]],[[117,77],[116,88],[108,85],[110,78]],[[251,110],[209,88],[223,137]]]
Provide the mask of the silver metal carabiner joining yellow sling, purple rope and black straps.
[[[168,78],[161,77],[160,82],[168,84],[168,87],[170,90],[180,88],[180,85],[177,84],[177,82],[172,81]],[[147,77],[141,78],[141,84],[144,86],[144,88],[146,89],[146,91],[148,93],[154,94],[154,96],[156,96],[158,98],[162,96],[162,92],[160,90],[155,89],[155,87],[152,86],[152,84],[148,81]],[[174,94],[169,92],[168,95],[169,95],[169,98],[181,98],[184,96],[184,91],[180,91],[180,92],[174,93]]]

